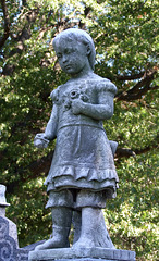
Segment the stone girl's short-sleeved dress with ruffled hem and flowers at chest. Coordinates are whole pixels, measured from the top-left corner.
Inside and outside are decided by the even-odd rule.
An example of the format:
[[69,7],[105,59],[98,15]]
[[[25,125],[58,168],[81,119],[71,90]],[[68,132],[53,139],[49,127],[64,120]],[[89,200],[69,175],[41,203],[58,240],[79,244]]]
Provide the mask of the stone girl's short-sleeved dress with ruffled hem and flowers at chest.
[[100,77],[68,82],[51,92],[57,110],[57,142],[45,182],[48,192],[75,188],[106,191],[107,198],[115,197],[119,178],[102,122],[83,114],[74,115],[71,109],[73,99],[98,104],[99,96],[105,95],[108,102],[112,102],[115,91],[110,80]]

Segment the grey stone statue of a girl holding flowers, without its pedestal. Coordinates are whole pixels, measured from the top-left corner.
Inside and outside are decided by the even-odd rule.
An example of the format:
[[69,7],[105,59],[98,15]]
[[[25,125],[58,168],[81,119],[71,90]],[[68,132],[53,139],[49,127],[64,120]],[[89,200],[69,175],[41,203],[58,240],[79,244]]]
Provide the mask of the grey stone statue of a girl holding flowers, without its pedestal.
[[72,219],[73,248],[114,248],[101,209],[106,199],[115,197],[117,142],[108,140],[102,121],[113,114],[117,87],[94,73],[95,46],[86,32],[66,29],[54,38],[53,47],[61,69],[71,78],[51,92],[50,120],[45,133],[35,137],[39,148],[57,138],[45,182],[53,234],[36,249],[69,247]]

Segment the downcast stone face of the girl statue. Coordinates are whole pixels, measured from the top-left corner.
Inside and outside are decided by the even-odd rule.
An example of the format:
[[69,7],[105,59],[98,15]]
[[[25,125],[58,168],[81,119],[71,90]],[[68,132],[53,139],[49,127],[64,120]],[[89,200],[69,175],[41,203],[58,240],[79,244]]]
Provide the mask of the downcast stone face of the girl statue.
[[74,76],[90,70],[88,50],[84,44],[63,38],[54,49],[59,64],[66,74]]

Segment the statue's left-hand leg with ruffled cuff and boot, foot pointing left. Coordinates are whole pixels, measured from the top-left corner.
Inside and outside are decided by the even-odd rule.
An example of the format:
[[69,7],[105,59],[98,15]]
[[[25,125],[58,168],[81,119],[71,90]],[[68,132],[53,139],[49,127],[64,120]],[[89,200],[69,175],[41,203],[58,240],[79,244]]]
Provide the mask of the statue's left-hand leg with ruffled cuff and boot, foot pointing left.
[[35,250],[70,247],[69,234],[72,223],[71,197],[68,190],[60,192],[51,191],[47,207],[51,208],[52,213],[52,237],[42,245],[37,246]]

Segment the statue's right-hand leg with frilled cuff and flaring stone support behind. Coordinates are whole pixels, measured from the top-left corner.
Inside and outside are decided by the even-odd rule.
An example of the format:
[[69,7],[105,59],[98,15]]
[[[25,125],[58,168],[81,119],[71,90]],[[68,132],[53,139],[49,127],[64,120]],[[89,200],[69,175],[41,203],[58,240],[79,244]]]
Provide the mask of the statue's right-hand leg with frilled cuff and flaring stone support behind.
[[105,225],[102,206],[100,192],[83,191],[78,195],[77,207],[82,208],[82,228],[80,239],[73,248],[114,248]]

